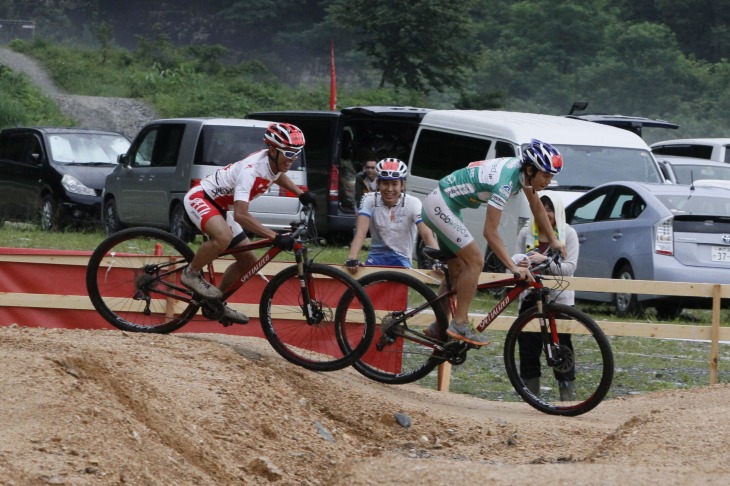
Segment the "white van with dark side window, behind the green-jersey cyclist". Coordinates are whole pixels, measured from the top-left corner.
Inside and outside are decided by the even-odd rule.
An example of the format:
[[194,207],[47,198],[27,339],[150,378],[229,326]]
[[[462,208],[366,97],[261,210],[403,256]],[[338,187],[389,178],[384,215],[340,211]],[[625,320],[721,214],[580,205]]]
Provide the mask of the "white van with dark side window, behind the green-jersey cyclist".
[[[476,160],[519,156],[533,138],[554,145],[563,155],[563,171],[546,191],[559,193],[566,205],[604,182],[664,182],[649,146],[628,130],[534,113],[434,110],[426,113],[416,134],[406,190],[423,199],[439,179],[454,170]],[[485,214],[484,205],[462,213],[485,252],[486,270]],[[529,218],[527,198],[520,193],[509,201],[500,223],[508,253],[514,253],[517,233]]]

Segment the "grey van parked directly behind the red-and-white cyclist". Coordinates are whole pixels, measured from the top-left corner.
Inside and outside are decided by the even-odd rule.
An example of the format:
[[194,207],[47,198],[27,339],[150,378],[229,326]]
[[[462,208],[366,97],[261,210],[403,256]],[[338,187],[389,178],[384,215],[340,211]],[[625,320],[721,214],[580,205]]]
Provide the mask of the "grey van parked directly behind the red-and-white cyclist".
[[[182,199],[206,175],[263,150],[268,121],[237,118],[174,118],[145,125],[120,164],[106,178],[103,219],[107,233],[127,226],[154,226],[191,241]],[[306,190],[306,155],[287,173]],[[251,214],[275,231],[289,229],[301,204],[273,184],[250,205]]]

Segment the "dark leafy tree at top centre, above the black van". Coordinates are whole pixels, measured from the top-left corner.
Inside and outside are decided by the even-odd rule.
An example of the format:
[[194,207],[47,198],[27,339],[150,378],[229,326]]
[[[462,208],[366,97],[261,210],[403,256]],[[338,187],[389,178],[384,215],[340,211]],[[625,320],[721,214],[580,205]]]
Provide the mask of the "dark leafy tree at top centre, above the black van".
[[474,0],[333,0],[328,19],[348,27],[381,72],[380,87],[459,87],[471,55]]

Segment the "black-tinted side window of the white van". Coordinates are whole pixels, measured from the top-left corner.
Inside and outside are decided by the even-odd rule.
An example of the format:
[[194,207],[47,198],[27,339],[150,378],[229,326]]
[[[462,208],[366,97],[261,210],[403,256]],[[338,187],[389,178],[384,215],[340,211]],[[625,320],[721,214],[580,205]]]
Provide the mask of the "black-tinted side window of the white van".
[[423,129],[411,162],[412,175],[439,180],[469,162],[484,160],[491,140]]

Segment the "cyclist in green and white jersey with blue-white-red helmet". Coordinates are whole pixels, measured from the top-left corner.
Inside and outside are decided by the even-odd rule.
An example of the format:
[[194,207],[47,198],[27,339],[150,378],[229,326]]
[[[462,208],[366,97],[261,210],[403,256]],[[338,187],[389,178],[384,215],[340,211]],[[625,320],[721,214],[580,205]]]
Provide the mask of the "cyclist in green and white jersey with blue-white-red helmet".
[[[484,258],[463,223],[461,210],[487,203],[483,234],[489,248],[510,272],[532,280],[529,270],[515,265],[504,247],[498,230],[499,220],[507,200],[524,189],[530,210],[538,226],[548,235],[550,247],[565,255],[565,244],[552,231],[537,195],[562,168],[560,152],[545,142],[533,139],[523,149],[521,158],[472,162],[441,179],[438,187],[424,199],[423,222],[436,233],[439,248],[454,254],[448,261],[456,288],[456,313],[446,331],[450,337],[475,346],[488,344],[469,324],[469,305],[476,293]],[[427,333],[435,335],[436,329],[429,329]]]

